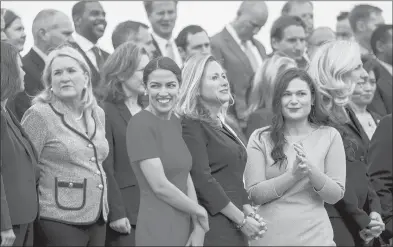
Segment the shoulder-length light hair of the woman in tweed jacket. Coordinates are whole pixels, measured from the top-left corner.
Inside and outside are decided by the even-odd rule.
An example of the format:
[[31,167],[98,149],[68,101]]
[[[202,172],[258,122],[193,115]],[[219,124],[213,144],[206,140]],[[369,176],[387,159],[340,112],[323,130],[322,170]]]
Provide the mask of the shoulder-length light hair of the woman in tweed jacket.
[[93,85],[91,83],[91,71],[86,60],[83,58],[76,49],[69,45],[62,45],[52,50],[45,60],[45,68],[42,74],[42,82],[44,84],[44,90],[33,99],[35,103],[53,103],[56,100],[56,95],[52,92],[52,64],[55,58],[58,57],[70,57],[74,59],[81,67],[83,72],[87,73],[88,83],[87,87],[82,93],[82,105],[83,109],[92,108],[93,105],[97,104],[96,98],[93,94]]

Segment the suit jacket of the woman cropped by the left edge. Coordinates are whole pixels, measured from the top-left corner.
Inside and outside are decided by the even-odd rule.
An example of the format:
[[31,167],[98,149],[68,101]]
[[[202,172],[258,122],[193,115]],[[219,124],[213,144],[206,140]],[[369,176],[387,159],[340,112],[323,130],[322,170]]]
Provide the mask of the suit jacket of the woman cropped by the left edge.
[[19,121],[1,109],[1,231],[38,215],[37,153]]

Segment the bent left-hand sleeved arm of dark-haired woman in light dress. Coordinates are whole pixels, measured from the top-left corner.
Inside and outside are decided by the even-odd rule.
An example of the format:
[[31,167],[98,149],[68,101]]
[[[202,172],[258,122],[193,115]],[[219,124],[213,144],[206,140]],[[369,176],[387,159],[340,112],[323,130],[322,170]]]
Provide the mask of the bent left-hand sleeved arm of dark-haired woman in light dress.
[[244,170],[244,185],[256,204],[269,203],[281,197],[298,181],[291,172],[266,179],[267,154],[265,145],[259,140],[260,130],[254,131],[247,145],[247,164]]

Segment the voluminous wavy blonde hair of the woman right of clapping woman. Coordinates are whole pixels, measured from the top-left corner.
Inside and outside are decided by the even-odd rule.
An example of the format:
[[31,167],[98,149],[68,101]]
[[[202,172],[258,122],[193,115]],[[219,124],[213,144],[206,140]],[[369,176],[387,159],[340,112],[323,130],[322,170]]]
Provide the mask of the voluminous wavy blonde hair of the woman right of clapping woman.
[[349,120],[344,106],[355,89],[355,82],[346,82],[344,75],[353,71],[360,60],[360,47],[348,40],[330,41],[320,46],[311,58],[308,73],[316,83],[321,103],[339,123]]

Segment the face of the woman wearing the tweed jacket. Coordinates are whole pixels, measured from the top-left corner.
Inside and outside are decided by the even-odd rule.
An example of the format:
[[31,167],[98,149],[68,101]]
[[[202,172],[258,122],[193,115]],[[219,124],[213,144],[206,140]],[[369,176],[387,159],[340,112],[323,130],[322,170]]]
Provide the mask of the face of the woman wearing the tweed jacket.
[[63,100],[80,99],[89,79],[88,74],[71,57],[55,58],[52,62],[51,77],[53,93]]

